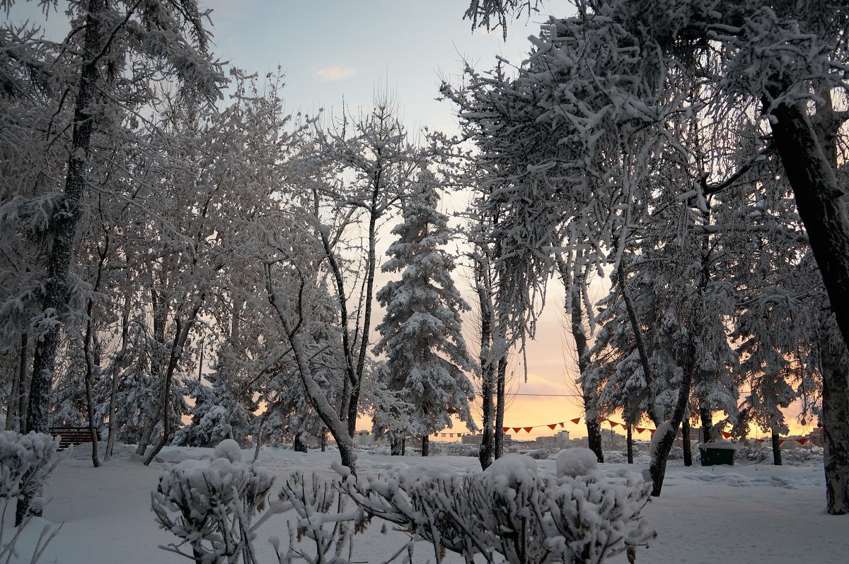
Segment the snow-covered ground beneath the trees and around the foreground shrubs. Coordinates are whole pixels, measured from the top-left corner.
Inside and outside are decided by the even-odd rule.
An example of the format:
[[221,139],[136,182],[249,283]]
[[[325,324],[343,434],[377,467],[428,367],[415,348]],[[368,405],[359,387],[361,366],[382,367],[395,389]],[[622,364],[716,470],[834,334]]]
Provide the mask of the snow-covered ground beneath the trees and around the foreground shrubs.
[[[46,495],[44,512],[48,522],[62,523],[61,529],[41,562],[76,564],[148,564],[186,562],[183,557],[157,548],[176,541],[171,533],[157,528],[150,510],[150,494],[156,489],[162,462],[209,457],[210,449],[166,448],[161,461],[143,466],[132,460],[131,448],[122,446],[115,460],[91,466],[87,446],[76,447],[59,466]],[[250,460],[252,451],[245,451]],[[259,465],[278,477],[306,470],[332,475],[331,464],[338,453],[296,453],[291,450],[262,450]],[[457,470],[479,468],[472,457],[390,457],[361,451],[358,470],[377,473],[411,468],[422,461]],[[540,472],[554,473],[554,461],[537,461]],[[642,472],[644,464],[604,464],[601,472],[621,468]],[[272,490],[277,491],[277,484]],[[816,466],[682,466],[670,461],[661,498],[652,499],[644,517],[657,538],[648,549],[638,550],[638,562],[688,562],[694,564],[807,564],[849,561],[849,516],[825,513],[824,472]],[[39,528],[32,523],[31,531]],[[284,517],[278,516],[260,529],[256,547],[260,562],[275,562],[267,543],[273,535],[284,535]],[[21,560],[28,561],[27,544],[19,545]],[[357,537],[356,561],[380,562],[403,542],[402,533],[381,534],[374,526]],[[421,561],[434,561],[427,546],[417,549]],[[26,559],[23,556],[27,556]],[[451,560],[449,560],[451,561]],[[459,561],[459,560],[453,560]],[[625,555],[610,559],[627,562]]]

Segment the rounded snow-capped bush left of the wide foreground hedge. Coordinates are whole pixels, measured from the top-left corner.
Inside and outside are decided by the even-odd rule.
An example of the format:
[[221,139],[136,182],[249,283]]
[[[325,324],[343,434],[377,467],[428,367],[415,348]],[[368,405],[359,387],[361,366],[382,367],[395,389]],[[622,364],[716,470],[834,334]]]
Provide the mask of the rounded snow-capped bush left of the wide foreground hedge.
[[[251,541],[259,522],[251,522],[272,483],[264,468],[245,464],[232,439],[219,443],[210,461],[166,464],[152,495],[153,510],[160,527],[183,542],[161,548],[197,564],[234,562],[239,556],[245,564],[254,562]],[[182,544],[191,547],[191,554],[181,550]]]

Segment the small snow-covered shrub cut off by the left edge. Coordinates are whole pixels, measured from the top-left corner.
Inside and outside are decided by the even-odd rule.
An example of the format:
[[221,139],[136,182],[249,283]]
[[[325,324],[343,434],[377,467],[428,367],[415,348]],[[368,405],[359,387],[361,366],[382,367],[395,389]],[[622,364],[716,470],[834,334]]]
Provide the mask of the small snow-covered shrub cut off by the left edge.
[[[0,431],[0,523],[11,521],[8,511],[14,506],[13,501],[17,504],[30,503],[29,508],[18,508],[20,525],[11,539],[6,539],[4,528],[0,528],[0,561],[8,561],[8,557],[14,554],[14,546],[29,522],[30,514],[41,514],[44,500],[37,496],[50,474],[67,455],[58,453],[58,449],[59,440],[50,435]],[[50,532],[49,526],[44,528],[33,549],[32,561],[37,560],[54,533]]]

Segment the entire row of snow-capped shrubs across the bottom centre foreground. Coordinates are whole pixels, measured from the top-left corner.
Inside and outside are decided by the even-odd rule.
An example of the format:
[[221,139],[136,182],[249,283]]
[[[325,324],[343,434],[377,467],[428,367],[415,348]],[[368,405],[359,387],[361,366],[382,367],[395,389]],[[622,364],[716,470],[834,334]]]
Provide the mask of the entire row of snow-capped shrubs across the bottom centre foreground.
[[[191,544],[196,562],[235,562],[239,554],[252,562],[250,517],[271,483],[238,451],[227,450],[228,458],[221,450],[211,461],[166,466],[154,495],[157,519]],[[605,477],[586,449],[563,451],[556,466],[557,476],[545,475],[531,457],[505,455],[485,472],[428,464],[362,477],[337,466],[340,477],[329,480],[295,472],[260,522],[288,517],[283,538],[269,539],[280,564],[349,562],[354,534],[375,520],[408,533],[385,561],[413,561],[417,542],[426,541],[437,562],[446,552],[465,561],[603,562],[655,536],[640,517],[650,484],[626,471]],[[250,489],[251,480],[261,484]],[[228,539],[234,530],[241,536]]]

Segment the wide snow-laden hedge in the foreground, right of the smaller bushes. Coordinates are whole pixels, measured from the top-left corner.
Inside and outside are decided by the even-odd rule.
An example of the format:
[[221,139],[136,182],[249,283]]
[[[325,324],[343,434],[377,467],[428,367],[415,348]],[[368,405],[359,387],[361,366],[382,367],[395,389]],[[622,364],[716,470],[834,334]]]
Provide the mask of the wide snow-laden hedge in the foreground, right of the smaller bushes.
[[368,515],[407,528],[399,554],[410,557],[424,539],[467,561],[602,562],[655,534],[639,516],[650,484],[628,472],[547,476],[529,456],[505,455],[485,472],[419,465],[406,475],[345,475],[341,487]]

